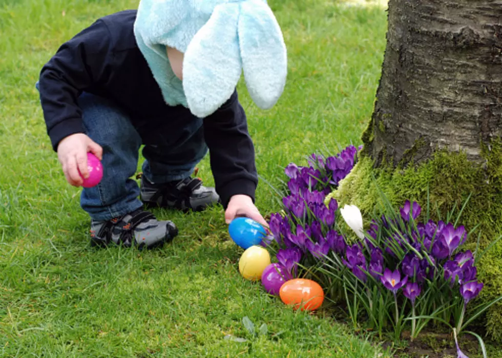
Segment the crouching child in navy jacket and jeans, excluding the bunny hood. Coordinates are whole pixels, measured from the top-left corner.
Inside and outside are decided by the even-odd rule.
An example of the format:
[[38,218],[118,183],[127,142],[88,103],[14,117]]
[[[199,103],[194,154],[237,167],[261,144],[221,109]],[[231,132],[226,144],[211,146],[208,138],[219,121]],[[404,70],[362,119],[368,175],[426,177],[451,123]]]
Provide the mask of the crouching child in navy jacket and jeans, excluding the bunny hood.
[[[150,2],[156,1],[165,3]],[[186,101],[170,101],[158,58],[151,59],[138,37],[137,17],[138,11],[128,10],[98,19],[58,49],[37,82],[48,135],[68,183],[80,186],[79,173],[88,177],[87,152],[102,161],[101,182],[83,188],[80,198],[91,217],[91,242],[152,248],[172,240],[175,224],[157,220],[144,206],[202,210],[221,202],[227,223],[246,216],[266,225],[254,204],[254,145],[235,87],[204,118]],[[183,77],[190,75],[184,53],[165,46],[163,54],[165,77],[183,88]],[[142,144],[138,187],[131,177]],[[191,177],[208,150],[216,188]]]

